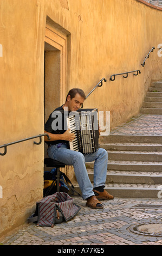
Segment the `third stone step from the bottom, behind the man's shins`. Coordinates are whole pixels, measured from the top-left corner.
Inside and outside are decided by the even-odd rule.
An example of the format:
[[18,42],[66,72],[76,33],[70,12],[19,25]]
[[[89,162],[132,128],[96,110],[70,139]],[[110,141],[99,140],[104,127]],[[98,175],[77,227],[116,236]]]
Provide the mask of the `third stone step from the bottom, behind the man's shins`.
[[[87,162],[87,169],[93,169],[94,162]],[[108,160],[108,170],[124,170],[131,172],[162,172],[161,162],[144,162],[144,161],[113,161]]]

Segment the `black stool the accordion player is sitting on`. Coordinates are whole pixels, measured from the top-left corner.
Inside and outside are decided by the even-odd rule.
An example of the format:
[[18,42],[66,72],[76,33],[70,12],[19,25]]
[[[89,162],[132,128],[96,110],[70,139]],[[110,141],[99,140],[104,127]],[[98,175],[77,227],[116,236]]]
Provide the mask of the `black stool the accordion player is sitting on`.
[[56,168],[56,172],[57,172],[57,191],[60,191],[60,186],[59,186],[59,181],[61,180],[62,182],[64,182],[64,184],[66,184],[69,188],[71,188],[74,192],[76,192],[77,194],[79,194],[79,196],[81,196],[81,194],[79,192],[77,192],[76,190],[74,190],[73,184],[72,182],[69,182],[72,184],[72,187],[69,186],[69,184],[67,184],[67,182],[65,182],[64,180],[60,179],[60,168],[64,168],[66,165],[69,164],[64,164],[62,162],[59,162],[57,160],[53,160],[50,158],[46,158],[44,159],[44,164],[46,164],[46,167],[52,167],[52,168]]

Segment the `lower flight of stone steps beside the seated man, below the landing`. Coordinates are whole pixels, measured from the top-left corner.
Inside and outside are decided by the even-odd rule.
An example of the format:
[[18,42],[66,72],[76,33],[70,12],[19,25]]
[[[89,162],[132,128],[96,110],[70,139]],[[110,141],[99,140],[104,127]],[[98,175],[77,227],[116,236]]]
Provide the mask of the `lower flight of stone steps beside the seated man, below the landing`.
[[110,135],[102,148],[108,152],[107,191],[114,197],[158,198],[162,136]]

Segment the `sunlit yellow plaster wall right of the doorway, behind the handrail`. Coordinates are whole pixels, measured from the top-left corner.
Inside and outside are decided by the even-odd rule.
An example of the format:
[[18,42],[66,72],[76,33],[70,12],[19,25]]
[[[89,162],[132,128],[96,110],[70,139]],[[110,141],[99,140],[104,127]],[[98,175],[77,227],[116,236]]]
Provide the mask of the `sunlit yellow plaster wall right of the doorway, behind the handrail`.
[[[63,1],[62,1],[63,2]],[[55,5],[48,15],[71,33],[68,88],[80,87],[86,95],[105,77],[107,83],[88,97],[85,107],[111,111],[111,129],[139,112],[151,80],[161,79],[161,10],[136,0],[64,1],[58,13]],[[66,17],[66,19],[65,19]],[[141,63],[155,47],[145,68]],[[140,69],[139,76],[125,79],[113,74]]]

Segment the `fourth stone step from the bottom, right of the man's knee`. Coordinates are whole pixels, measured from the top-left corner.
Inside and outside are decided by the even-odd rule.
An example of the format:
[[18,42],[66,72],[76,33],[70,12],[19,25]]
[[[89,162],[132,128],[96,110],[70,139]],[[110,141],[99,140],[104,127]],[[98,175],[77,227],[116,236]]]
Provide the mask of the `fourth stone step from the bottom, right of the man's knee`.
[[107,150],[108,160],[113,161],[144,161],[144,162],[161,162],[162,152],[148,152],[148,151],[111,151]]

